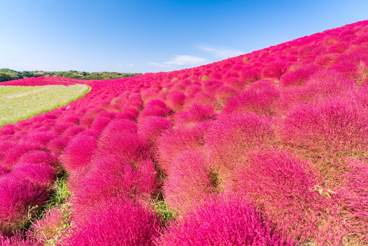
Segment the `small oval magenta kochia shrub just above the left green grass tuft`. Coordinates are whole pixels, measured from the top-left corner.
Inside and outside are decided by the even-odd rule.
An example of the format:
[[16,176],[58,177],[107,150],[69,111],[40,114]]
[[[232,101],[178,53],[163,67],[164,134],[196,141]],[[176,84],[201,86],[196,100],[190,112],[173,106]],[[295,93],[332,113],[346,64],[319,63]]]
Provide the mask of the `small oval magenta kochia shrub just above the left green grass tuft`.
[[61,165],[67,172],[72,173],[78,166],[90,161],[98,145],[95,134],[90,130],[82,131],[65,147],[61,156]]

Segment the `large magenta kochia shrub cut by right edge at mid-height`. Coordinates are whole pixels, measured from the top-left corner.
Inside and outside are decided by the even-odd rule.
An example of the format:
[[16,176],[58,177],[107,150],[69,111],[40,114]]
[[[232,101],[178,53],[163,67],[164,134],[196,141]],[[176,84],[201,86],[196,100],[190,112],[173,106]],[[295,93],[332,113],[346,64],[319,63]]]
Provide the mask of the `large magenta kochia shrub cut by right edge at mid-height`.
[[367,152],[368,107],[355,99],[335,96],[302,104],[286,116],[283,140],[309,155],[362,155]]

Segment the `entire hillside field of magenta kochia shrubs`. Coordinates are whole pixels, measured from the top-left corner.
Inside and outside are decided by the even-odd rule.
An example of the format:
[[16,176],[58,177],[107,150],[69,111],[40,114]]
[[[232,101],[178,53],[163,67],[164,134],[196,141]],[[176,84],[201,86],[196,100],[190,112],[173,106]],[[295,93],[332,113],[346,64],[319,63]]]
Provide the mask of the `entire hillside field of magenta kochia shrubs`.
[[1,246],[368,245],[368,21],[169,73],[1,86],[75,84],[91,91],[0,128]]

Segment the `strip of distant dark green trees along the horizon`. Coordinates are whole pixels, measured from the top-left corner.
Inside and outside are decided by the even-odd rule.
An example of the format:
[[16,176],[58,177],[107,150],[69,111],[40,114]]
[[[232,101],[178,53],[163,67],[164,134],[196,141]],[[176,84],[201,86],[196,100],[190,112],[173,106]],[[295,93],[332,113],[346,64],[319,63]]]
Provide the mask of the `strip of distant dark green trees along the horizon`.
[[116,73],[116,72],[81,72],[75,70],[69,71],[15,71],[8,68],[0,69],[0,82],[9,80],[18,80],[20,78],[55,76],[64,78],[77,78],[80,80],[111,80],[114,78],[126,78],[141,73]]

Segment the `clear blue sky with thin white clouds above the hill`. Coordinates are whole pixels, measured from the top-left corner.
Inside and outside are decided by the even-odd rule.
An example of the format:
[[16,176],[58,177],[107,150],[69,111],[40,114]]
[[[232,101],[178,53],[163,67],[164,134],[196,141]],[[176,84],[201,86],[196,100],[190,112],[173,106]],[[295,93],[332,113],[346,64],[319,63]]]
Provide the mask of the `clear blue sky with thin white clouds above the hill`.
[[179,70],[366,19],[354,0],[0,0],[0,68]]

